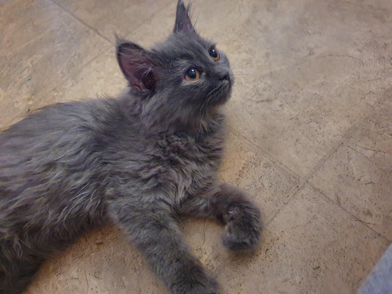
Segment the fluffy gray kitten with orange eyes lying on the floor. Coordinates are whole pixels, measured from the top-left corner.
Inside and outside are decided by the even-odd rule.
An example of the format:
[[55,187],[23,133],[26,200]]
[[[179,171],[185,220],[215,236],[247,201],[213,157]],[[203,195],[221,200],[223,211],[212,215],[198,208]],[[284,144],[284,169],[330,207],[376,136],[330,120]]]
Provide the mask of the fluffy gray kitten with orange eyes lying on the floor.
[[233,74],[188,10],[180,0],[150,51],[118,41],[126,94],[48,106],[0,133],[0,293],[21,293],[47,257],[108,222],[175,294],[218,293],[176,215],[222,222],[230,250],[258,244],[259,210],[217,180]]

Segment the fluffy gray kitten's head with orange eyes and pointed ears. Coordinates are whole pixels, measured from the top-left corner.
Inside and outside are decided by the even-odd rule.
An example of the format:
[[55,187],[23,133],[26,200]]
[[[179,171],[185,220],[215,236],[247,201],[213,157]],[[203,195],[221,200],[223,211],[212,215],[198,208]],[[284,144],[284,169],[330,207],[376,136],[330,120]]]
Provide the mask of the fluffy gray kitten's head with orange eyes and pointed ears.
[[188,12],[179,0],[173,33],[151,50],[122,40],[117,46],[120,67],[131,92],[145,101],[144,112],[184,127],[224,104],[233,84],[226,55],[195,32]]

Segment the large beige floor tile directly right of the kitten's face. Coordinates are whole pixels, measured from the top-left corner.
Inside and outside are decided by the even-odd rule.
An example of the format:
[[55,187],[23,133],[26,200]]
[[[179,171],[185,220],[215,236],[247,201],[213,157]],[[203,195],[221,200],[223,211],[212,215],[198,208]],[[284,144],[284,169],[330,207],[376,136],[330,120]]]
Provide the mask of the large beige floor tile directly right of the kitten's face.
[[230,125],[306,176],[390,87],[392,22],[344,2],[254,6],[225,40],[238,75]]

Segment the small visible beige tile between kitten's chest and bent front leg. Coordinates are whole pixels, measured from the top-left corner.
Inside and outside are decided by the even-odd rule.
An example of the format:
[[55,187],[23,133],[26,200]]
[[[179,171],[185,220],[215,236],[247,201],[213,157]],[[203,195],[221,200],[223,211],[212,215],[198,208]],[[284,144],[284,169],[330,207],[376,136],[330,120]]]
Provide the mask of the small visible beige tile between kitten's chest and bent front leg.
[[222,179],[246,191],[268,223],[287,203],[299,178],[272,162],[260,149],[230,132],[220,173]]

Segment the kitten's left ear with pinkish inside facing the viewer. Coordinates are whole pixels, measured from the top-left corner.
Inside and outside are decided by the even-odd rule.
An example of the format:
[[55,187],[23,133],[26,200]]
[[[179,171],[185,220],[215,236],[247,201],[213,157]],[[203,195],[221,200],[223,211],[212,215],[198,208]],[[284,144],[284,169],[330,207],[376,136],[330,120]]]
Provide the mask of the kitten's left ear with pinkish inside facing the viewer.
[[131,87],[140,92],[155,90],[155,67],[148,51],[137,44],[118,39],[117,61]]

